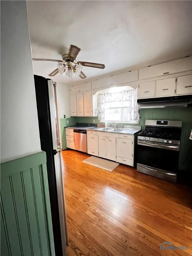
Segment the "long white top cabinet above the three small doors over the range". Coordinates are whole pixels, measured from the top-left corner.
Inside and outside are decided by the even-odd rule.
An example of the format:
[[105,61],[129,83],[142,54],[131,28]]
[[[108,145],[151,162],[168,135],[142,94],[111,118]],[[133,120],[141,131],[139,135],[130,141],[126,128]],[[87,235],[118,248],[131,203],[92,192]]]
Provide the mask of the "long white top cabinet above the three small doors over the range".
[[192,57],[186,57],[178,60],[173,60],[158,65],[141,68],[139,70],[139,79],[146,79],[155,76],[163,76],[183,72],[192,69]]

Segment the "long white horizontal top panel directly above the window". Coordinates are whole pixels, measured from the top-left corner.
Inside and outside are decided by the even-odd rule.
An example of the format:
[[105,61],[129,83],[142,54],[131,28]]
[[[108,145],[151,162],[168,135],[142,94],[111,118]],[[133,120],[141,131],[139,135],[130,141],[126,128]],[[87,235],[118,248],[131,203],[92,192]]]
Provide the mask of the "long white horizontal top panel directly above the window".
[[116,84],[123,84],[123,83],[137,81],[137,80],[138,80],[138,70],[134,70],[127,73],[92,81],[92,89],[109,87]]

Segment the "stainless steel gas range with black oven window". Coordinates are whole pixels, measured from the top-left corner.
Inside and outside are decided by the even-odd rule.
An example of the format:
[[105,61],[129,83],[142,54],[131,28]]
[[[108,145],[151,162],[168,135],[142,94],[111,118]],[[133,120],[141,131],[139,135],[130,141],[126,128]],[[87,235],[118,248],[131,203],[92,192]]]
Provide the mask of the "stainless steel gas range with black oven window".
[[137,171],[176,182],[182,121],[145,120],[137,139]]

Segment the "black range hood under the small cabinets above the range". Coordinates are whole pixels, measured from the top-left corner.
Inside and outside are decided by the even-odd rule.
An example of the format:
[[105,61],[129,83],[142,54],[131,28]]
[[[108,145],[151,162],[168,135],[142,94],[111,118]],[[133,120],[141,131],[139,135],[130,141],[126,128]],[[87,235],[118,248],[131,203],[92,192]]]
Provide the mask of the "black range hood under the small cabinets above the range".
[[168,108],[192,106],[192,95],[138,99],[138,108]]

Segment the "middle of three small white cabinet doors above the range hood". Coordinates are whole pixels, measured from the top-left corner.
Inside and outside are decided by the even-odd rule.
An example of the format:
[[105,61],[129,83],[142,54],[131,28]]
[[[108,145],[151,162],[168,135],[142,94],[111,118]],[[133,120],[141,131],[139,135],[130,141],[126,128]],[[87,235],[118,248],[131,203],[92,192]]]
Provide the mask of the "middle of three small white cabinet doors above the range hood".
[[158,97],[158,96],[174,95],[175,83],[176,83],[175,77],[157,80],[156,96]]

